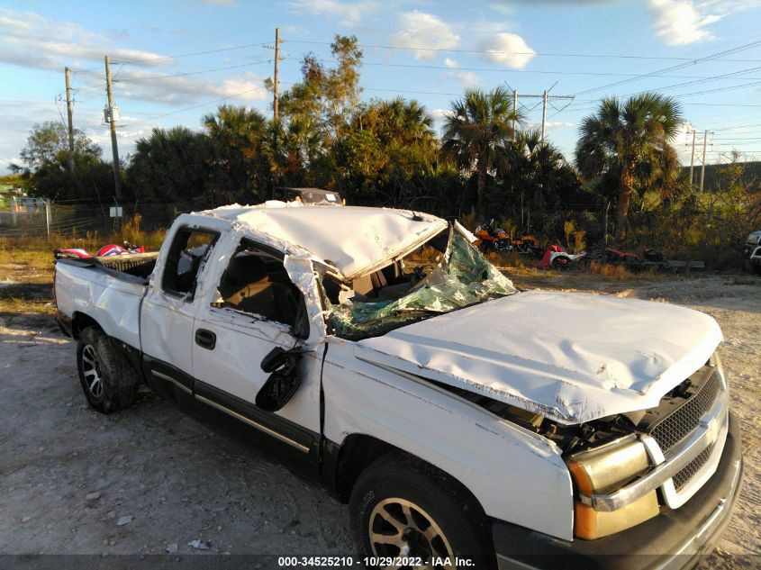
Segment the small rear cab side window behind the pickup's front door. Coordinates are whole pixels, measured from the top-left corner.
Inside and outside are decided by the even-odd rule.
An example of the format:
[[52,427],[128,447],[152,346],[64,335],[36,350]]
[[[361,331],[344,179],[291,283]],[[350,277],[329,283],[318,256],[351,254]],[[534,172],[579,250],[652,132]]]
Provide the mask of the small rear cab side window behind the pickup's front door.
[[218,231],[186,227],[177,230],[161,279],[164,293],[193,302],[198,272],[219,237]]

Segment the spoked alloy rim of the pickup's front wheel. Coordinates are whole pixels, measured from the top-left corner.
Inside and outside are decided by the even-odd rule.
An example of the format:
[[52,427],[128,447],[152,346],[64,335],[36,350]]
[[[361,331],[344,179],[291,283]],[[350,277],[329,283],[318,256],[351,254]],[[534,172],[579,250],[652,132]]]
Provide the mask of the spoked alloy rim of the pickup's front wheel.
[[[368,532],[374,556],[420,557],[423,565],[416,568],[455,570],[448,538],[436,520],[414,502],[399,498],[378,502],[370,512]],[[434,565],[433,558],[448,559],[449,564]]]

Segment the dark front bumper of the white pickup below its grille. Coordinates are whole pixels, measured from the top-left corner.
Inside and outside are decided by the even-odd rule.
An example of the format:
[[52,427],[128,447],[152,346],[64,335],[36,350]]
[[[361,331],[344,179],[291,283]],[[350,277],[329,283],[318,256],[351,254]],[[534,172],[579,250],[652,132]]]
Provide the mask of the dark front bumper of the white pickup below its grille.
[[492,534],[500,570],[692,568],[711,552],[729,525],[742,483],[740,448],[738,421],[729,413],[719,466],[702,489],[679,509],[664,507],[654,519],[610,537],[562,540],[495,521]]

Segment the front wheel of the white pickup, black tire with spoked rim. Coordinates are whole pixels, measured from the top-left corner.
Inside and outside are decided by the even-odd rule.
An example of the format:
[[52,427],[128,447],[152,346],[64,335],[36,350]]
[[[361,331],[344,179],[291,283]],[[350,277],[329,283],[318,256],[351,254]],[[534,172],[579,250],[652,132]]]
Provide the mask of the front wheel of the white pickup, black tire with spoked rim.
[[[478,569],[495,566],[491,526],[480,504],[447,475],[412,457],[391,454],[367,467],[351,490],[349,512],[363,562],[377,556],[421,556],[426,564],[435,556],[452,563],[435,568],[454,568],[454,557],[470,559]],[[373,538],[395,538],[408,550]]]

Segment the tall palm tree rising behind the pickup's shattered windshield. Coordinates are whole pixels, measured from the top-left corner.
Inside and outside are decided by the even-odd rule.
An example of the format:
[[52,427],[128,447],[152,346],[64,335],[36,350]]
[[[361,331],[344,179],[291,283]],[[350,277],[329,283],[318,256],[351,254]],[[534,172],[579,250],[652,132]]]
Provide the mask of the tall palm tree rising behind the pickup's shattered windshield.
[[475,170],[479,218],[485,217],[486,176],[512,139],[512,123],[520,120],[512,106],[512,95],[503,87],[489,93],[468,89],[462,99],[451,104],[441,152],[461,169]]

